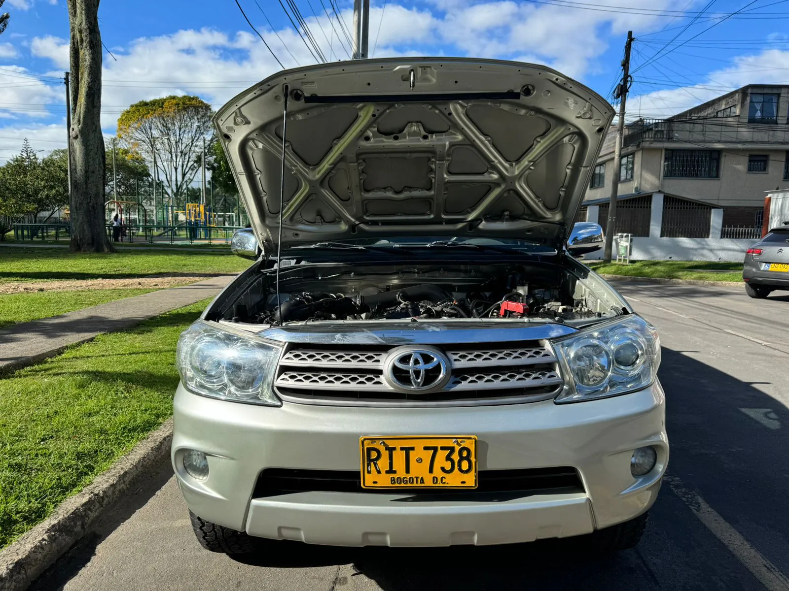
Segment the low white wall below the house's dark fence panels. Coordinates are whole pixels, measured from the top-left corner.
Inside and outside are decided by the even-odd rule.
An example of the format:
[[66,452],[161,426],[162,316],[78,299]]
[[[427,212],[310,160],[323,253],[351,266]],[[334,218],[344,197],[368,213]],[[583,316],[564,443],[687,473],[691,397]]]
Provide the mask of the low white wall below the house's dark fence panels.
[[[728,261],[742,262],[745,251],[758,240],[732,238],[634,238],[630,259],[636,261]],[[603,250],[584,255],[600,260]]]

